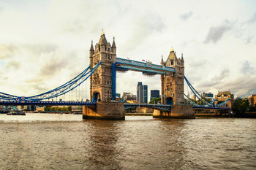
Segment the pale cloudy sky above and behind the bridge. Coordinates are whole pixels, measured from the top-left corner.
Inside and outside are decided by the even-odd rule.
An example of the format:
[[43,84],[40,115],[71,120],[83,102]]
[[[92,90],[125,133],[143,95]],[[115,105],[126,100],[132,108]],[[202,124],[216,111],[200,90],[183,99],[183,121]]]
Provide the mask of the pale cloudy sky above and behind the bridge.
[[[31,96],[58,87],[89,66],[102,28],[117,56],[160,63],[171,47],[199,93],[256,94],[256,1],[0,0],[0,91]],[[160,77],[118,74],[117,92]],[[89,82],[83,85],[89,98]],[[185,86],[185,93],[187,85]]]

